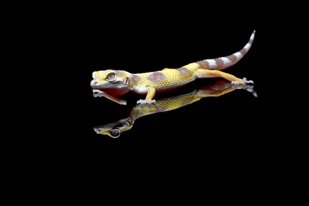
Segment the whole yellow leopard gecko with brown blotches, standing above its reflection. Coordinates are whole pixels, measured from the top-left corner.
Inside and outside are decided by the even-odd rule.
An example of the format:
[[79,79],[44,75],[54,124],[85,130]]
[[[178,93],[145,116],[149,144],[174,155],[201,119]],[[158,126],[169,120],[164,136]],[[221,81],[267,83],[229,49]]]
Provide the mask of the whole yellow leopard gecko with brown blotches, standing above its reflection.
[[145,100],[139,100],[137,103],[151,104],[155,103],[156,92],[165,92],[185,86],[197,78],[222,77],[236,85],[253,83],[252,80],[240,79],[220,70],[231,67],[248,52],[254,35],[255,31],[251,34],[248,43],[232,55],[194,62],[178,69],[165,68],[160,71],[136,74],[113,69],[94,71],[90,86],[94,93],[99,93],[100,96],[109,97],[109,99],[122,104],[125,102],[121,102],[116,96],[127,92],[147,94]]

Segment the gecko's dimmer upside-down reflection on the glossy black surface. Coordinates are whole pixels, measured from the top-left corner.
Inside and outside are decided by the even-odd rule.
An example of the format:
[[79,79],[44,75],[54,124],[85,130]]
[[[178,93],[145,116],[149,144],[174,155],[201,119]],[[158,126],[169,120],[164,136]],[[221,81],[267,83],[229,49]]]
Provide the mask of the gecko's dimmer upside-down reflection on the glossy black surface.
[[[216,81],[211,85],[196,89],[188,94],[158,99],[156,100],[155,104],[136,104],[133,109],[130,109],[132,111],[128,117],[120,119],[114,123],[94,127],[93,129],[97,134],[108,135],[110,137],[116,138],[120,136],[120,133],[130,130],[134,122],[142,116],[177,109],[182,106],[196,102],[204,97],[218,97],[226,93],[232,92],[235,89],[245,89],[251,92],[255,97],[257,97],[257,94],[253,90],[252,85],[232,85],[230,81],[223,79]],[[94,96],[97,95],[94,93]],[[126,104],[124,100],[118,99],[116,97],[109,95],[103,96],[117,103]]]

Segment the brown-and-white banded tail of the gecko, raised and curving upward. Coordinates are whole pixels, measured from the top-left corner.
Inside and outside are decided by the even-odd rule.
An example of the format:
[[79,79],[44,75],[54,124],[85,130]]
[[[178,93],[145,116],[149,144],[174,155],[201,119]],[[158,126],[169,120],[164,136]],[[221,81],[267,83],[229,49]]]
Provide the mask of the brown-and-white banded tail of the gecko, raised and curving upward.
[[226,57],[220,57],[216,59],[205,59],[202,61],[196,62],[200,65],[202,69],[210,69],[210,70],[221,70],[231,67],[236,64],[245,54],[249,51],[253,39],[254,39],[255,30],[250,36],[248,43],[238,52],[233,53],[232,55]]

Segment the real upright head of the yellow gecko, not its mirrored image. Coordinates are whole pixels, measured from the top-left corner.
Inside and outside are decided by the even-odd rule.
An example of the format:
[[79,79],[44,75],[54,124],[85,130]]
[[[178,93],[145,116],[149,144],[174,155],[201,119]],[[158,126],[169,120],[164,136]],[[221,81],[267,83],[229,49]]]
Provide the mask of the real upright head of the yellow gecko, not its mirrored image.
[[107,69],[94,71],[92,78],[90,82],[92,89],[97,89],[110,95],[122,95],[130,90],[128,88],[128,72],[123,70]]

